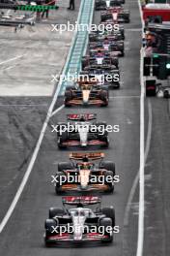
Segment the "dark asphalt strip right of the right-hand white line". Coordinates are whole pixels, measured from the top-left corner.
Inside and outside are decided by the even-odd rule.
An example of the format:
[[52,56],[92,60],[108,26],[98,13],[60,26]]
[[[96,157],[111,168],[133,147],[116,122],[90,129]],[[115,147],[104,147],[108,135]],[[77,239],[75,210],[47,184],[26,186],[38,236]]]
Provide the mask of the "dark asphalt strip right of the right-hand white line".
[[[169,100],[148,98],[152,108],[152,137],[145,168],[144,255],[170,254],[170,112]],[[147,113],[147,110],[146,110]],[[146,114],[145,119],[149,118]]]

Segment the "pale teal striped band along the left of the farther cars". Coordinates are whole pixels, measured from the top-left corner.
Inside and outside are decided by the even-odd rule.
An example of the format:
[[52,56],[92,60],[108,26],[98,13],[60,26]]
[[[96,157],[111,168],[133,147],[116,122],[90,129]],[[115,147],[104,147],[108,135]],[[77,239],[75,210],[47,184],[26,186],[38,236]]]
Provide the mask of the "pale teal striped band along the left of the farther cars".
[[[83,0],[81,1],[79,15],[77,18],[77,25],[83,27],[90,26],[93,20],[95,7],[95,0]],[[60,87],[59,95],[63,95],[66,86],[69,84],[67,80],[62,78],[74,77],[79,73],[81,68],[81,58],[86,51],[88,43],[88,30],[82,29],[74,32],[74,37],[71,43],[71,49],[66,61],[62,75],[60,76],[59,84]]]

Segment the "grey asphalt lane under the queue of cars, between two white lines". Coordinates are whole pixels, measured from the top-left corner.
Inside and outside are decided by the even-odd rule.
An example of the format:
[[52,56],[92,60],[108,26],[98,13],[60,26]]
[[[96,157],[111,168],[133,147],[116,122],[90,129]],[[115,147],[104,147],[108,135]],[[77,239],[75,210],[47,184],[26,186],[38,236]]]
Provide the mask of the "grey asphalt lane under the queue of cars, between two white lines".
[[[61,206],[61,197],[55,195],[54,187],[50,183],[50,176],[55,174],[57,163],[65,161],[71,151],[59,151],[57,149],[56,137],[48,127],[34,170],[14,209],[14,214],[0,235],[1,255],[134,255],[137,239],[135,225],[132,228],[132,225],[126,227],[128,246],[125,248],[124,244],[127,244],[127,240],[124,240],[123,222],[128,194],[139,168],[140,31],[138,29],[140,29],[140,20],[137,2],[129,2],[127,6],[131,10],[131,23],[127,25],[126,56],[121,60],[121,68],[124,72],[124,84],[121,90],[110,92],[111,99],[108,108],[64,109],[51,119],[51,122],[56,123],[59,120],[63,121],[64,115],[69,112],[97,112],[99,120],[104,120],[112,125],[120,125],[120,133],[110,135],[110,147],[104,151],[106,158],[115,161],[116,171],[121,177],[121,182],[116,185],[113,195],[102,196],[103,205],[113,205],[116,209],[116,224],[120,225],[120,234],[115,235],[115,242],[109,246],[86,248],[44,247],[42,240],[43,223],[47,217],[48,208]],[[98,22],[98,20],[99,13],[95,16],[95,22]],[[137,30],[130,30],[131,28],[137,28]],[[36,124],[35,128],[37,129]],[[9,191],[11,195],[14,192],[13,188]],[[7,208],[5,200],[1,208]],[[133,215],[132,218],[134,222],[137,220],[136,215]]]

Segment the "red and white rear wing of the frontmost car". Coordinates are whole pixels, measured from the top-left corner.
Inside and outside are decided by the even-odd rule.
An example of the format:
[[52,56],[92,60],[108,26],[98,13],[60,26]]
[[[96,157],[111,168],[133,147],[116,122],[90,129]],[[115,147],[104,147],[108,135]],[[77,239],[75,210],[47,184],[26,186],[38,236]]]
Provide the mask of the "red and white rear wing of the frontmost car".
[[93,196],[81,196],[81,197],[63,197],[62,198],[63,205],[95,205],[101,203],[100,197],[93,197]]

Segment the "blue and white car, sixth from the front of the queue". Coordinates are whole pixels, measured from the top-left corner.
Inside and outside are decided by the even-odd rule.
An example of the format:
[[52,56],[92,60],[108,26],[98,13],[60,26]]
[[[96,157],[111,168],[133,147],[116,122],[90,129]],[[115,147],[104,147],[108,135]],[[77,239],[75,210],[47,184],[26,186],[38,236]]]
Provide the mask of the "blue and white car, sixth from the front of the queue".
[[111,56],[107,51],[90,51],[90,55],[86,55],[82,57],[82,70],[85,67],[91,65],[114,65],[117,69],[119,69],[119,60],[116,56]]

